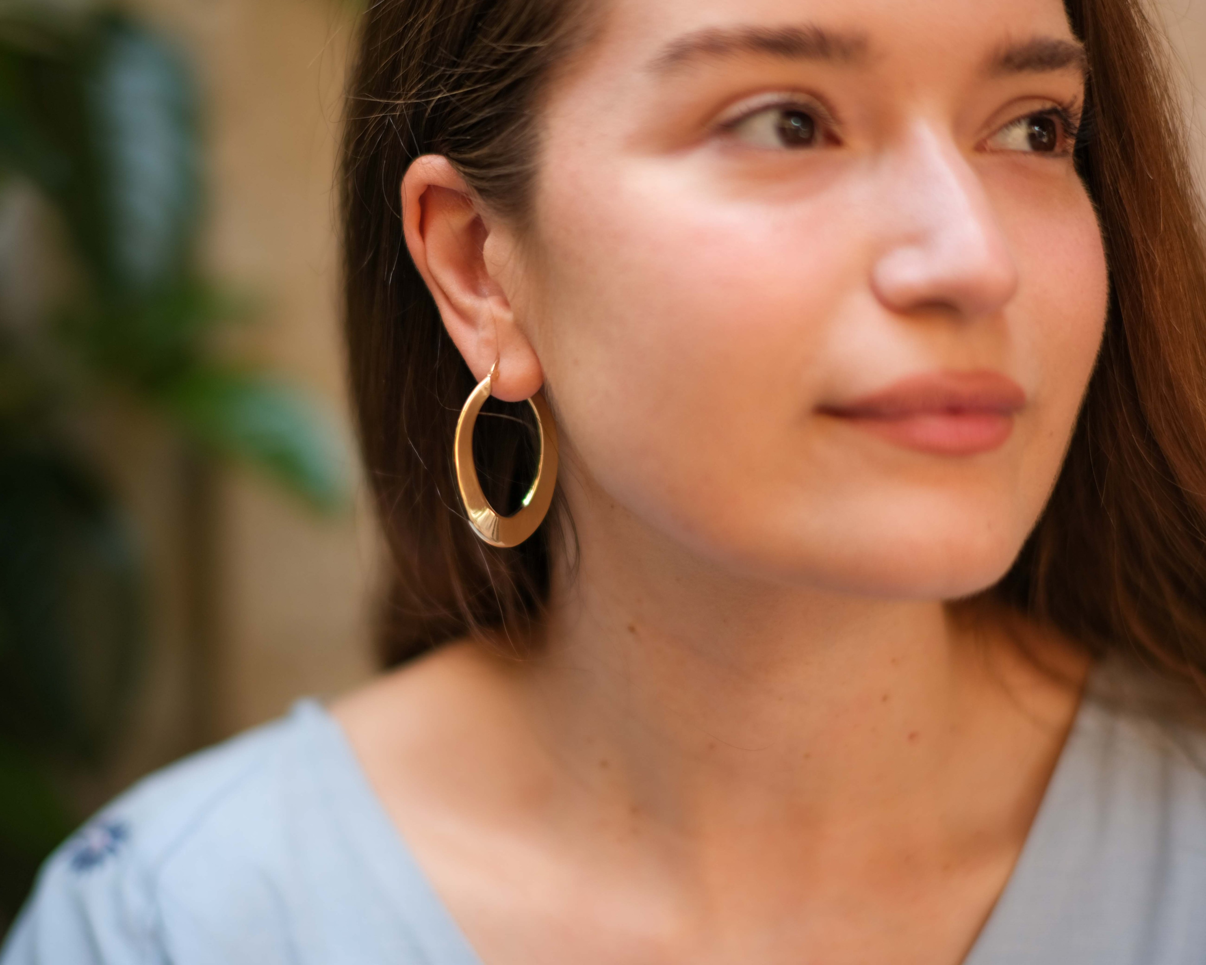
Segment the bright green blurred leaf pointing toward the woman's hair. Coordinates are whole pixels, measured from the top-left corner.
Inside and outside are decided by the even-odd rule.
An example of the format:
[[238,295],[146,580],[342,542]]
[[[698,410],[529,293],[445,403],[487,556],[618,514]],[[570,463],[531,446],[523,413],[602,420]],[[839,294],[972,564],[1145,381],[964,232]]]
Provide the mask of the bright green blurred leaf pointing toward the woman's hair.
[[297,388],[210,367],[178,379],[160,400],[200,441],[267,470],[315,508],[347,504],[347,445],[330,415]]

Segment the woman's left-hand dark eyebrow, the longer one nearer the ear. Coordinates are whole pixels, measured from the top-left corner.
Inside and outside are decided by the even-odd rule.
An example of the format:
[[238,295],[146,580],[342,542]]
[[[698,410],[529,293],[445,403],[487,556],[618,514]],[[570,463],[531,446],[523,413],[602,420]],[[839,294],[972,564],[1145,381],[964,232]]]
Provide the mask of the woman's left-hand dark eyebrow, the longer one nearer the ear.
[[650,62],[650,69],[667,74],[695,60],[749,54],[849,64],[866,57],[867,39],[820,27],[708,28],[671,41]]

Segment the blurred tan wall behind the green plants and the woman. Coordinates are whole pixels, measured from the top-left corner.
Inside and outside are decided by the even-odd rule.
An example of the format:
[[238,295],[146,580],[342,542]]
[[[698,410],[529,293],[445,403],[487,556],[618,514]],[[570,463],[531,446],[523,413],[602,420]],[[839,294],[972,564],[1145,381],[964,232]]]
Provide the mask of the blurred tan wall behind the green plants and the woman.
[[[356,6],[131,0],[124,10],[171,39],[195,75],[207,182],[198,257],[252,306],[251,322],[222,334],[223,351],[304,386],[350,443],[333,170]],[[1161,0],[1159,16],[1202,172],[1206,0]],[[60,776],[77,814],[299,695],[365,679],[381,560],[351,455],[351,496],[323,514],[238,462],[197,475],[177,435],[136,405],[103,407],[88,432],[141,540],[150,626],[124,736],[99,766]]]

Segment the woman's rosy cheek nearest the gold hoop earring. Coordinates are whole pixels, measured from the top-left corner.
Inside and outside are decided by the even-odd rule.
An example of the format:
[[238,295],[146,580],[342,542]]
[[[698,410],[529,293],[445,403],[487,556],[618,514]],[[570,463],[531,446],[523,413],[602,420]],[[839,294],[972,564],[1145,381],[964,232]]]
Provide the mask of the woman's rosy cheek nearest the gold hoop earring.
[[750,479],[783,462],[813,405],[819,320],[863,274],[857,233],[810,227],[842,223],[836,200],[768,216],[681,171],[586,182],[562,168],[540,217],[573,226],[541,246],[539,352],[567,435],[613,498],[722,539],[766,511]]

